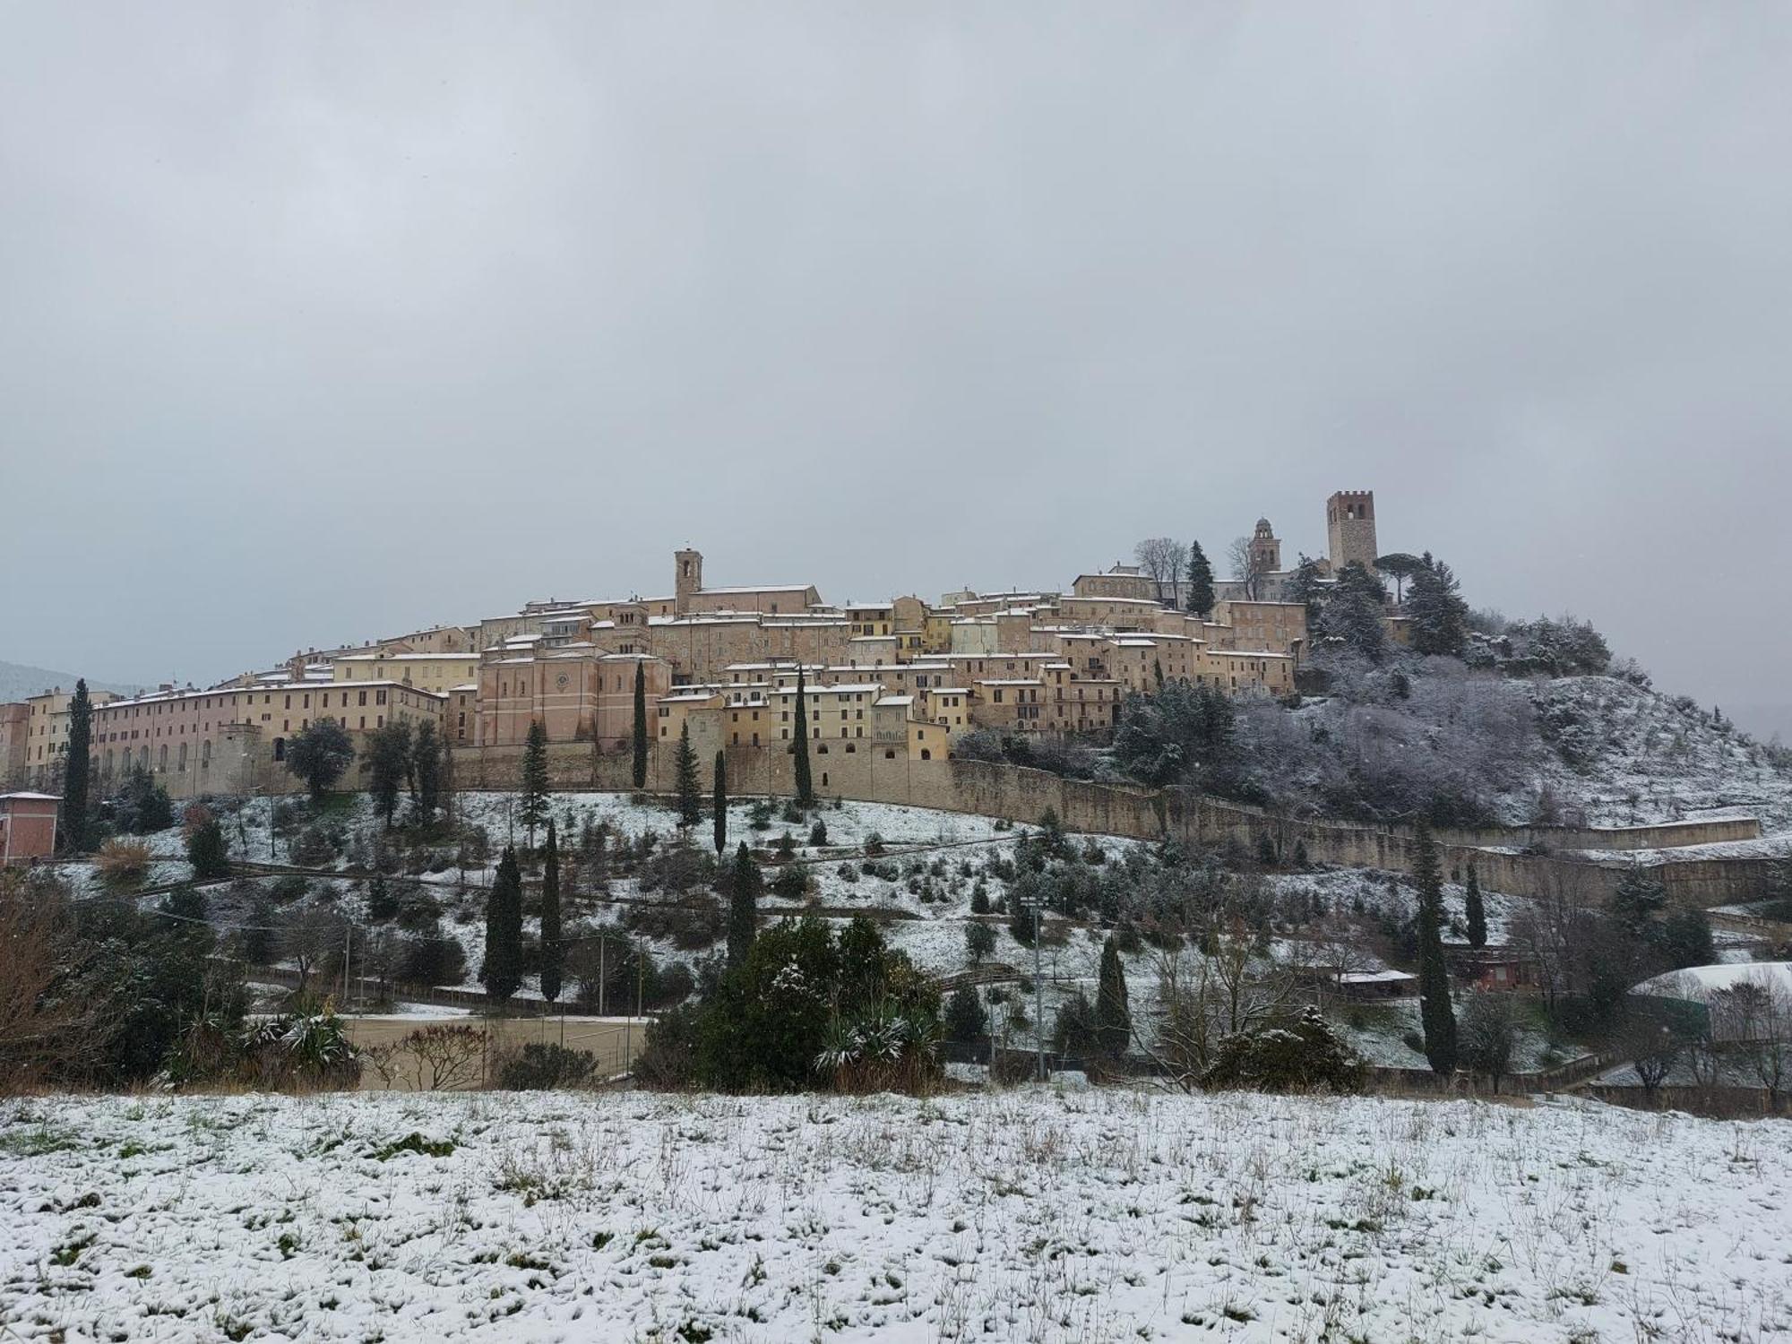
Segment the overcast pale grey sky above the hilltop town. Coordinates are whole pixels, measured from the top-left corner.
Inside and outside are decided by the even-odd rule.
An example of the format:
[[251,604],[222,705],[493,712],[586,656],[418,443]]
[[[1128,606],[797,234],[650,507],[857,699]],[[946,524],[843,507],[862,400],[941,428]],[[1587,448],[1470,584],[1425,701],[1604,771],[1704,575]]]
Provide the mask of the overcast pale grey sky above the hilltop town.
[[0,4],[0,658],[1383,550],[1781,702],[1792,7]]

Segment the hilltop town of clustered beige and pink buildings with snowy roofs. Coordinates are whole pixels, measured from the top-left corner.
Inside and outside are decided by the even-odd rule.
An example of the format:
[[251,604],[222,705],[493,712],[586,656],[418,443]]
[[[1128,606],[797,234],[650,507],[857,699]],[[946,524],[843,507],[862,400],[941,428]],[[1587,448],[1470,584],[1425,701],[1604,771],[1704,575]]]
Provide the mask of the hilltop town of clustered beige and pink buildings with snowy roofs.
[[[1147,541],[1136,563],[1081,573],[1066,591],[961,590],[937,602],[830,602],[812,582],[710,586],[702,554],[677,550],[663,597],[530,600],[306,649],[210,686],[93,692],[91,767],[100,787],[147,771],[177,799],[285,792],[299,787],[283,769],[289,740],[333,719],[357,749],[387,722],[432,722],[477,778],[484,753],[521,745],[536,722],[550,744],[627,753],[636,681],[656,742],[688,728],[702,760],[780,751],[803,677],[817,753],[833,753],[830,787],[844,788],[842,765],[948,760],[973,729],[1111,733],[1129,694],[1165,681],[1285,699],[1308,654],[1306,597],[1382,559],[1371,491],[1339,491],[1324,513],[1326,554],[1305,566],[1283,564],[1260,520],[1233,547],[1233,577],[1213,577],[1204,556],[1192,577],[1188,550]],[[1394,595],[1380,618],[1392,643],[1410,642]],[[72,692],[0,704],[0,785],[56,790]]]

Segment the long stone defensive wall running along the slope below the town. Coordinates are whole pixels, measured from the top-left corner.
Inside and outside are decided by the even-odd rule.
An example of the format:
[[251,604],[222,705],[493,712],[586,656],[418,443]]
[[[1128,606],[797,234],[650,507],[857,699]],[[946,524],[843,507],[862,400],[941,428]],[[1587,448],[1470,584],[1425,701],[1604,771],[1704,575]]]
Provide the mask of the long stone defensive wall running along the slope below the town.
[[[846,751],[853,745],[855,751]],[[821,751],[826,747],[826,751]],[[461,747],[453,753],[457,788],[514,788],[521,747]],[[701,760],[704,788],[710,762]],[[1403,826],[1344,821],[1296,821],[1262,808],[1226,803],[1185,788],[1140,788],[1084,783],[1016,765],[885,756],[869,742],[817,742],[810,754],[815,792],[867,803],[896,803],[968,812],[1038,824],[1047,808],[1064,830],[1127,835],[1183,844],[1235,842],[1256,849],[1269,835],[1283,853],[1299,842],[1315,864],[1378,867],[1410,873],[1416,842]],[[556,788],[627,792],[633,787],[627,753],[597,753],[588,744],[548,747],[548,778]],[[728,785],[737,797],[796,794],[794,756],[765,747],[728,749]],[[649,753],[647,788],[672,788],[672,751]],[[1512,896],[1559,896],[1575,903],[1604,903],[1633,864],[1650,867],[1681,905],[1711,907],[1758,900],[1767,869],[1754,858],[1674,857],[1663,849],[1751,840],[1760,837],[1753,817],[1679,821],[1663,826],[1514,830],[1441,830],[1435,833],[1443,866],[1475,866],[1484,887]],[[1636,855],[1625,858],[1627,853]]]

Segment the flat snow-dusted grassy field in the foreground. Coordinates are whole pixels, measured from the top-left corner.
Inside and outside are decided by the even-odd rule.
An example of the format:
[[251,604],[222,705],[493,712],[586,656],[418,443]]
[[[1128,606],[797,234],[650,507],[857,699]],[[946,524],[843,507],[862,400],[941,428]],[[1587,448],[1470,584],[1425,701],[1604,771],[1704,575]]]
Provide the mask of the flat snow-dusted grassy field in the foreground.
[[1136,1091],[0,1107],[0,1337],[1792,1331],[1792,1124]]

